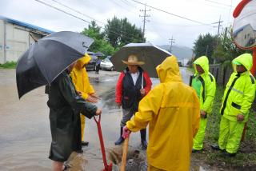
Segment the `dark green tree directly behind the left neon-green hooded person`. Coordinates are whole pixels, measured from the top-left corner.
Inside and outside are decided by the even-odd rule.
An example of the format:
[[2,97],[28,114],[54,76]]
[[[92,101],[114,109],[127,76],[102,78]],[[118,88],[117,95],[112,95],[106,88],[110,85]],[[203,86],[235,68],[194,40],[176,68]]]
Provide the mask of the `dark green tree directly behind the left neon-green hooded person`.
[[199,35],[198,39],[194,42],[194,55],[195,59],[203,55],[207,56],[210,63],[214,62],[212,55],[214,54],[214,47],[216,46],[217,37],[211,34]]

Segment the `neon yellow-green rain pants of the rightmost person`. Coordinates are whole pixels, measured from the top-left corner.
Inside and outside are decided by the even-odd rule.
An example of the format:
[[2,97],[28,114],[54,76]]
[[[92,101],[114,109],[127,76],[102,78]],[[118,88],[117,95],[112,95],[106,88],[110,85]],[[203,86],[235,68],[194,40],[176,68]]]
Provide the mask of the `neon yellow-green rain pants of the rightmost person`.
[[228,153],[237,153],[244,125],[244,122],[230,121],[222,116],[219,125],[219,148],[226,149]]

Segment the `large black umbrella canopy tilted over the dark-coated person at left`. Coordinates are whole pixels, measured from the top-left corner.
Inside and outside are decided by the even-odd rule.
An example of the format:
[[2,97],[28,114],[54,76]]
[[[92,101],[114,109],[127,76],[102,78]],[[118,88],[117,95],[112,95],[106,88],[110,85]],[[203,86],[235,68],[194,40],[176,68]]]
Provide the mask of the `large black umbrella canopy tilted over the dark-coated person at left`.
[[62,31],[30,46],[16,67],[18,97],[42,85],[50,85],[66,67],[86,53],[94,42],[82,34]]

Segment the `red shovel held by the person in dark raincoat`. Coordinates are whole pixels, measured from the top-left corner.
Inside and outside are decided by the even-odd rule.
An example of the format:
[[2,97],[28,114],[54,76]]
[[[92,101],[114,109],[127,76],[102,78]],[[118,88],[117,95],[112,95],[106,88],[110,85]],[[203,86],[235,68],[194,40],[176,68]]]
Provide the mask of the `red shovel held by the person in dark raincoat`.
[[102,171],[112,171],[113,164],[110,163],[110,165],[107,165],[107,163],[106,163],[106,152],[105,152],[104,141],[103,141],[103,137],[102,137],[101,114],[98,115],[98,120],[94,116],[94,121],[96,121],[97,128],[98,128],[98,137],[99,137],[99,141],[101,143],[102,159],[103,159],[103,163],[104,163],[104,167],[105,167],[104,169],[102,169]]

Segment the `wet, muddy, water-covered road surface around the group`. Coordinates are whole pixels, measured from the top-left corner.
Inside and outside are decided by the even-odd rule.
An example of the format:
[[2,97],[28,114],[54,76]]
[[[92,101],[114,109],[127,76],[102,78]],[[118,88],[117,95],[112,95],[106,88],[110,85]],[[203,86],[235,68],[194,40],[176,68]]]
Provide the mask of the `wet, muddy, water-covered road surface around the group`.
[[[181,69],[183,81],[188,84],[189,72]],[[102,98],[102,133],[107,149],[114,147],[118,138],[119,123],[122,117],[114,102],[114,86],[118,73],[100,71],[99,75],[89,72],[90,82]],[[154,85],[158,79],[153,79]],[[50,150],[49,109],[44,88],[34,89],[18,100],[14,70],[0,69],[0,170],[50,170],[51,161],[47,158]],[[102,154],[98,141],[98,130],[93,119],[86,120],[86,141],[84,147],[88,165],[86,170],[103,169]],[[130,145],[139,148],[140,135],[133,133]]]

